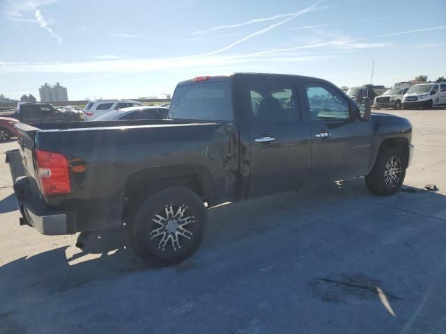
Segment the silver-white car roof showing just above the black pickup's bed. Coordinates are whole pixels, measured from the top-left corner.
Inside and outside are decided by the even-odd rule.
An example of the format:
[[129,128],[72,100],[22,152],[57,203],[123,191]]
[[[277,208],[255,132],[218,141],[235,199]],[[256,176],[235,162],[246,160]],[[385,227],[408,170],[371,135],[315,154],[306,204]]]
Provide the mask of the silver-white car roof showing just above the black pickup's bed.
[[131,106],[109,111],[94,120],[162,120],[168,117],[168,113],[169,108],[162,106]]

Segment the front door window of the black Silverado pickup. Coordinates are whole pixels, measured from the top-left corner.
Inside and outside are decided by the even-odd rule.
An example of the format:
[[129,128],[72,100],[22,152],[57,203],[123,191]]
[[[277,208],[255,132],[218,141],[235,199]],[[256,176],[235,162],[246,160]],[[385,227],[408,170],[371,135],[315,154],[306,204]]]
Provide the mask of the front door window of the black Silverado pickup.
[[349,120],[347,100],[335,91],[317,85],[307,85],[307,97],[312,120]]

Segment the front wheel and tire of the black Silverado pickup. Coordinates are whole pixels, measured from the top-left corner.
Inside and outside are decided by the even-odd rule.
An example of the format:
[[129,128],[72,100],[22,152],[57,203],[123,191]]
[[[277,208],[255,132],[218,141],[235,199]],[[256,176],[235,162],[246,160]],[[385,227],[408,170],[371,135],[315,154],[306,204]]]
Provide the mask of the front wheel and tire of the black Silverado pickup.
[[406,167],[406,157],[401,150],[383,148],[378,153],[371,172],[365,177],[365,184],[375,195],[391,196],[401,189]]

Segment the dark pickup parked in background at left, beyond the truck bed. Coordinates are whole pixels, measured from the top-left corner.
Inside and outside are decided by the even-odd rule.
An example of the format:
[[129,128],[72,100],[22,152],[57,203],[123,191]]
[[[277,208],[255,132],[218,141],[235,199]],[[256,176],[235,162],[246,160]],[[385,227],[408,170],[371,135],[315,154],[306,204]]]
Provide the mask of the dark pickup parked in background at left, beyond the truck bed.
[[22,123],[38,124],[46,122],[72,122],[83,120],[80,113],[65,113],[54,108],[52,104],[36,102],[19,102],[17,119]]

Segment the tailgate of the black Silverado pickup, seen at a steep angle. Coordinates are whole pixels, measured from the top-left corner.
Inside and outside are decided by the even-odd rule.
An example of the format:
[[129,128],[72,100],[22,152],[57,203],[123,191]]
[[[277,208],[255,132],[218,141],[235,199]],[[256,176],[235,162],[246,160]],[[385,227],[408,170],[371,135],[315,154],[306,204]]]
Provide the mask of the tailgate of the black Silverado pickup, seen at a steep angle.
[[[32,127],[31,125],[19,123],[15,125],[17,129],[17,143],[19,143],[19,152],[21,156],[21,162],[23,164],[24,172],[29,177],[36,180],[36,170],[34,168],[33,160],[33,148],[34,148],[34,138],[36,132],[38,132],[37,127]],[[15,159],[13,164],[17,164],[18,159]],[[14,177],[14,176],[13,176]]]

